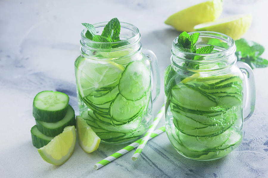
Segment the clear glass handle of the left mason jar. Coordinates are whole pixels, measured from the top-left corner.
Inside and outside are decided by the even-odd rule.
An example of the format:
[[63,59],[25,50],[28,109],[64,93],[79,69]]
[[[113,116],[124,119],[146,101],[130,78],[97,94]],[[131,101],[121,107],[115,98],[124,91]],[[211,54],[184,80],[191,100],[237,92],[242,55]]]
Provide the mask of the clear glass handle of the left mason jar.
[[[152,75],[152,93],[155,94],[155,97],[152,99],[153,102],[158,98],[160,93],[160,74],[159,67],[155,53],[146,48],[142,49],[142,53],[147,56],[152,66],[151,75]],[[155,85],[154,85],[155,84]]]

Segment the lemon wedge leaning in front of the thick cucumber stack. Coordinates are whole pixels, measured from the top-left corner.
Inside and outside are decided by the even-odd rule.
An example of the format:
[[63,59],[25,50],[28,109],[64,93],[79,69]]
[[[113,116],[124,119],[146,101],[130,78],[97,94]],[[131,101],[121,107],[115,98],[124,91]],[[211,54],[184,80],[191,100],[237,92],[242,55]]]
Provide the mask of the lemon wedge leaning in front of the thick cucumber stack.
[[54,137],[46,146],[38,149],[40,156],[48,163],[61,165],[74,151],[76,142],[75,127],[67,126],[63,132]]

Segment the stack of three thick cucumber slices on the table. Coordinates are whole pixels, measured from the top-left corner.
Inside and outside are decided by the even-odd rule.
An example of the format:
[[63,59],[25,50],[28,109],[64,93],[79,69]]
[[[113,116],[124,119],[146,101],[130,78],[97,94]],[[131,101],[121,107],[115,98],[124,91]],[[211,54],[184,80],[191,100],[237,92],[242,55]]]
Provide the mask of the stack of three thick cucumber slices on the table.
[[69,96],[61,92],[42,91],[33,101],[32,143],[40,148],[48,144],[69,125],[75,125],[74,109],[68,104]]

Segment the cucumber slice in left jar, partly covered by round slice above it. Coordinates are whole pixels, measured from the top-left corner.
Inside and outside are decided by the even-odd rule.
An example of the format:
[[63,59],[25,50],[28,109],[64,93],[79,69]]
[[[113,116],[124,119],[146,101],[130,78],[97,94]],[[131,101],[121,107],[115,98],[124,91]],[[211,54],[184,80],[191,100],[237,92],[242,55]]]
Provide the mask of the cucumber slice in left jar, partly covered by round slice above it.
[[147,107],[149,97],[145,95],[137,101],[130,101],[118,94],[109,108],[110,117],[121,123],[130,122]]

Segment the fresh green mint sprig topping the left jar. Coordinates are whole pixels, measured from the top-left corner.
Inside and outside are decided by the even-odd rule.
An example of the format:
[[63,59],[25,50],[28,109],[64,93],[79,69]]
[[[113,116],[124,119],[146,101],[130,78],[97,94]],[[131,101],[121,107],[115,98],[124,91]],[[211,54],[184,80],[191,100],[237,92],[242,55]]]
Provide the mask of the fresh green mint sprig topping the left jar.
[[[106,42],[106,43],[111,43],[111,42],[119,42],[121,41],[119,38],[120,30],[121,30],[121,25],[120,22],[117,18],[113,18],[110,20],[107,25],[104,27],[102,34],[97,35],[96,30],[93,25],[89,23],[82,23],[83,26],[85,26],[88,30],[85,33],[85,37],[95,41],[95,42]],[[96,48],[101,48],[101,49],[111,49],[111,48],[116,48],[116,47],[121,47],[124,45],[128,45],[128,42],[122,42],[119,44],[96,44],[94,47]]]

